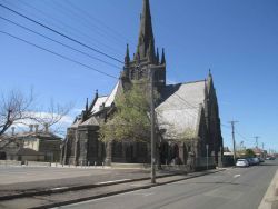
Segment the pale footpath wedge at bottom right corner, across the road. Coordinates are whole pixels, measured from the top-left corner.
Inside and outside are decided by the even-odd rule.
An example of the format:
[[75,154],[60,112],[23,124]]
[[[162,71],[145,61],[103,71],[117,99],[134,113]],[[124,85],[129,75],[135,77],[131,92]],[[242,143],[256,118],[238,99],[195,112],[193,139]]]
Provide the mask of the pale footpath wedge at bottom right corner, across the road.
[[278,170],[276,171],[258,209],[278,209]]

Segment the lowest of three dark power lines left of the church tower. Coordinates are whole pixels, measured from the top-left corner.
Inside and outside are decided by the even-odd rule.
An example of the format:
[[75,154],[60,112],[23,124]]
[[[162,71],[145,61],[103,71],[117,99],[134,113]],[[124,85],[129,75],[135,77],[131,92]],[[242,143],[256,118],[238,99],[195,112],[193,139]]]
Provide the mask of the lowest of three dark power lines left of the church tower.
[[16,36],[13,36],[13,34],[11,34],[11,33],[9,33],[9,32],[4,32],[4,31],[1,31],[1,30],[0,30],[0,32],[3,33],[3,34],[6,34],[6,36],[9,36],[9,37],[11,37],[11,38],[13,38],[13,39],[20,40],[20,41],[22,41],[22,42],[24,42],[24,43],[27,43],[27,44],[30,44],[30,46],[32,46],[32,47],[36,47],[36,48],[38,48],[38,49],[41,49],[41,50],[47,51],[47,52],[49,52],[49,53],[52,53],[52,54],[54,54],[54,56],[57,56],[57,57],[60,57],[60,58],[62,58],[62,59],[64,59],[64,60],[68,60],[68,61],[71,61],[71,62],[73,62],[73,63],[76,63],[76,64],[82,66],[82,67],[85,67],[85,68],[88,69],[88,70],[92,70],[92,71],[99,72],[99,73],[101,73],[101,74],[105,74],[105,76],[107,76],[107,77],[110,77],[110,78],[113,78],[113,79],[117,79],[117,80],[118,80],[118,78],[115,77],[115,76],[112,76],[112,74],[102,72],[102,71],[100,71],[100,70],[98,70],[98,69],[96,69],[96,68],[92,68],[92,67],[90,67],[90,66],[88,66],[88,64],[85,64],[85,63],[79,62],[79,61],[77,61],[77,60],[73,60],[73,59],[71,59],[71,58],[68,58],[68,57],[66,57],[66,56],[62,56],[62,54],[60,54],[60,53],[57,53],[57,52],[51,51],[51,50],[49,50],[49,49],[46,49],[46,48],[43,48],[43,47],[40,47],[40,46],[38,46],[38,44],[36,44],[36,43],[32,43],[32,42],[30,42],[30,41],[27,41],[27,40],[24,40],[24,39],[21,39],[21,38],[19,38],[19,37],[16,37]]

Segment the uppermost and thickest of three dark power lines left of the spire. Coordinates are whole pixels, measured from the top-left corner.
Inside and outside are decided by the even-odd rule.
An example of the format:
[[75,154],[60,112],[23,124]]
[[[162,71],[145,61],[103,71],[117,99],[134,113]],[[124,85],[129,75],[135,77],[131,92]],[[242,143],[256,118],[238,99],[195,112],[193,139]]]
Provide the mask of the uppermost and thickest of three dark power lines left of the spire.
[[29,20],[29,21],[31,21],[31,22],[33,22],[33,23],[36,23],[36,24],[39,24],[39,26],[41,26],[41,27],[43,27],[43,28],[46,28],[46,29],[48,29],[48,30],[50,30],[50,31],[52,31],[52,32],[54,32],[54,33],[57,33],[57,34],[59,34],[59,36],[61,36],[61,37],[68,39],[68,40],[70,40],[70,41],[73,41],[73,42],[76,42],[76,43],[78,43],[78,44],[80,44],[80,46],[82,46],[82,47],[86,47],[86,48],[88,48],[88,49],[90,49],[90,50],[92,50],[92,51],[95,51],[95,52],[97,52],[97,53],[100,53],[100,54],[102,54],[102,56],[105,56],[105,57],[107,57],[107,58],[110,58],[110,59],[112,59],[112,60],[115,60],[115,61],[118,61],[118,62],[120,62],[120,63],[123,63],[122,61],[120,61],[120,60],[117,59],[117,58],[113,58],[112,56],[109,56],[109,54],[107,54],[107,53],[105,53],[105,52],[102,52],[102,51],[100,51],[100,50],[98,50],[98,49],[95,49],[95,48],[88,46],[88,44],[85,44],[85,43],[80,42],[79,40],[76,40],[76,39],[73,39],[73,38],[71,38],[71,37],[67,36],[67,34],[64,34],[64,33],[62,33],[62,32],[59,32],[59,31],[57,31],[57,30],[54,30],[54,29],[52,29],[52,28],[50,28],[50,27],[48,27],[48,26],[46,26],[46,24],[43,24],[43,23],[41,23],[41,22],[39,22],[39,21],[37,21],[37,20],[33,20],[33,19],[31,19],[31,18],[29,18],[29,17],[27,17],[27,16],[24,16],[24,14],[18,12],[18,11],[16,11],[16,10],[13,10],[13,9],[11,9],[11,8],[9,8],[9,7],[7,7],[7,6],[3,6],[3,4],[0,3],[0,7],[7,9],[7,10],[9,10],[9,11],[11,11],[11,12],[13,12],[13,13],[16,13],[16,14],[18,14],[18,16],[20,16],[20,17],[22,17],[22,18],[24,18],[24,19],[27,19],[27,20]]

